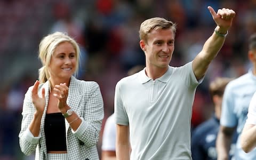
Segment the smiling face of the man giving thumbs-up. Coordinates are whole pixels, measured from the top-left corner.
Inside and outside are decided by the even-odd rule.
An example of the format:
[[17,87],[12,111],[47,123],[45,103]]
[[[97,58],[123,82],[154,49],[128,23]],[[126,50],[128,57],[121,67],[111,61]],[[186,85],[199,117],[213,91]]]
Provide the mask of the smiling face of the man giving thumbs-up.
[[151,30],[147,42],[140,41],[141,49],[146,55],[148,67],[166,68],[174,51],[174,34],[172,29]]

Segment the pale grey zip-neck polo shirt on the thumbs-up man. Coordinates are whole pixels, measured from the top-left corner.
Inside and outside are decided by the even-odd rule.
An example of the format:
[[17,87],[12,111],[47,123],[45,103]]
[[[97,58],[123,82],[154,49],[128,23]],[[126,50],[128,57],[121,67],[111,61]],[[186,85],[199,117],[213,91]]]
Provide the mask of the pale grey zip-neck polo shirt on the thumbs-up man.
[[131,159],[191,159],[191,111],[202,79],[189,62],[155,81],[143,69],[117,83],[116,123],[130,127]]

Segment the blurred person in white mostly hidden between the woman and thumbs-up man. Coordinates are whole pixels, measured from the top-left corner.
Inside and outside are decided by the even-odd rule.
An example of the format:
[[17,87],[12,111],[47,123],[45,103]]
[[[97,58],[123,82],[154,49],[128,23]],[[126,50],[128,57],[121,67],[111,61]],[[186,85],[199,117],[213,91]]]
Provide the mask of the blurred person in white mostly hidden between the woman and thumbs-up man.
[[[138,73],[145,66],[132,67],[127,76]],[[115,160],[116,159],[116,123],[114,114],[107,118],[105,127],[103,129],[102,146],[101,146],[101,160]]]

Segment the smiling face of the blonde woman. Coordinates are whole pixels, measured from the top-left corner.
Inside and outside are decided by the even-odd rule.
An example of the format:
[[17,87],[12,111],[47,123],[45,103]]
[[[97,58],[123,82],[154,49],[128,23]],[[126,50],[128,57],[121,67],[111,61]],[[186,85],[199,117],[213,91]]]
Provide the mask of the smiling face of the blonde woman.
[[58,81],[67,81],[74,73],[77,65],[77,53],[69,42],[60,43],[51,58],[50,76]]

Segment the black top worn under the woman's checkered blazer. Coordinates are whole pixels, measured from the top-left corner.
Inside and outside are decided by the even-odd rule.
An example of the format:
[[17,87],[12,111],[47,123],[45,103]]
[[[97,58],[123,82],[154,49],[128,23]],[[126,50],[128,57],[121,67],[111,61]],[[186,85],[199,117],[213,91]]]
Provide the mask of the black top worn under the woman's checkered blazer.
[[45,115],[44,132],[47,151],[66,151],[65,118],[61,113]]

